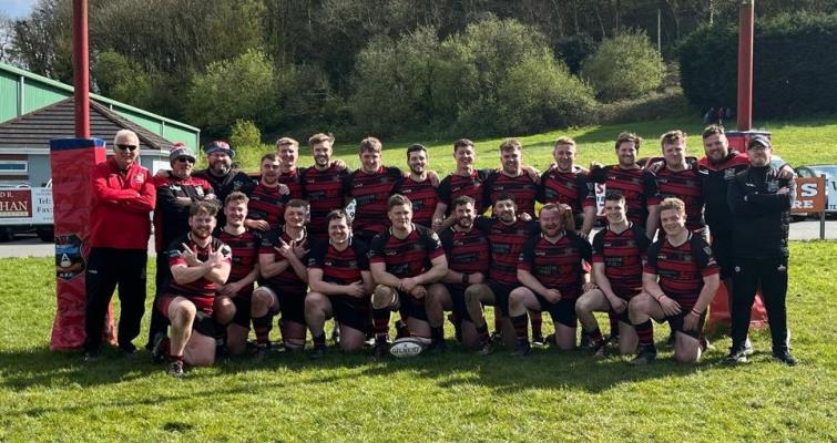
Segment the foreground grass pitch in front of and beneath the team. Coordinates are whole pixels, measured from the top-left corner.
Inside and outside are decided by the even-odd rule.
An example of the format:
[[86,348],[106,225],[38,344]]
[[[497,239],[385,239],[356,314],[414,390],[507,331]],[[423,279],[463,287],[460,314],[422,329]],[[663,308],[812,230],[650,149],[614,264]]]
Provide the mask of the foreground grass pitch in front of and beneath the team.
[[835,243],[792,245],[796,368],[770,361],[765,331],[753,334],[748,365],[721,364],[729,340],[713,337],[698,364],[662,351],[631,368],[554,350],[481,358],[460,351],[448,327],[443,356],[276,356],[178,381],[144,351],[92,364],[50,352],[52,260],[2,259],[0,441],[835,441],[836,260]]

